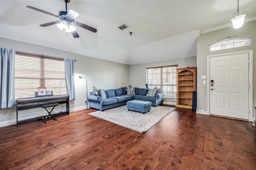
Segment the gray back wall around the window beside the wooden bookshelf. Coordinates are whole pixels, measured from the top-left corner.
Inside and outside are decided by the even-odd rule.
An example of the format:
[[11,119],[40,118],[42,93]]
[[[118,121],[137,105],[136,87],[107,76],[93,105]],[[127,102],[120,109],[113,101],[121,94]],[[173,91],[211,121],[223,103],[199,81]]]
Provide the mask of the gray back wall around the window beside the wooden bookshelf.
[[[196,67],[196,56],[130,65],[130,84],[134,87],[146,88],[146,70],[148,67],[158,67],[176,64],[179,68]],[[172,102],[170,103],[168,102],[168,100],[165,99],[164,103],[175,105],[176,100],[172,100]]]

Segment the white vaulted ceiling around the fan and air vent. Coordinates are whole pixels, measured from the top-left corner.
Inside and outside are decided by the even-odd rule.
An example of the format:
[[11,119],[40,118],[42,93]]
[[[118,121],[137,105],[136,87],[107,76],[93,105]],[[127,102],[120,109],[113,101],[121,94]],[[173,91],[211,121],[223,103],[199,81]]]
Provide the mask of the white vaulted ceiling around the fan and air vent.
[[[239,4],[240,11],[249,12],[248,18],[256,16],[256,0],[240,0]],[[134,54],[134,49],[139,46],[230,23],[232,14],[236,12],[237,0],[71,0],[68,10],[72,8],[80,14],[76,20],[98,30],[93,33],[77,28],[78,39],[56,26],[40,27],[40,24],[58,18],[26,6],[53,14],[65,10],[63,0],[0,0],[1,37],[134,64],[147,59],[142,55],[144,53]],[[118,26],[122,24],[129,28],[120,30]],[[133,35],[130,36],[129,32]],[[196,55],[196,43],[191,42],[186,44],[185,51],[189,51],[186,56],[178,51],[174,52],[175,55]],[[166,53],[161,60],[169,59],[170,55]]]

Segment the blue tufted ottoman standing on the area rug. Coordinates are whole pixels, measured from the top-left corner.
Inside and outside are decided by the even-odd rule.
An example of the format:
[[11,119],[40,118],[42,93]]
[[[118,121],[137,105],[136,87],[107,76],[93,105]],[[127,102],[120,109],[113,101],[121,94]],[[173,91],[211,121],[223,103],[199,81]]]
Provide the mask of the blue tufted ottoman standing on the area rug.
[[145,112],[150,111],[152,103],[150,101],[132,100],[126,104],[128,111],[139,111],[145,114]]

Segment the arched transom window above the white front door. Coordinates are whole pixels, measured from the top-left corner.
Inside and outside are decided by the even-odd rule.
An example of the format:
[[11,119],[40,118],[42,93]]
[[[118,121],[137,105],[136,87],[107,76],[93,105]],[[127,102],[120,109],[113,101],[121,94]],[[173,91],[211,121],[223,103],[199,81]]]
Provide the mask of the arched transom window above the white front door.
[[229,37],[209,45],[210,51],[251,45],[250,37]]

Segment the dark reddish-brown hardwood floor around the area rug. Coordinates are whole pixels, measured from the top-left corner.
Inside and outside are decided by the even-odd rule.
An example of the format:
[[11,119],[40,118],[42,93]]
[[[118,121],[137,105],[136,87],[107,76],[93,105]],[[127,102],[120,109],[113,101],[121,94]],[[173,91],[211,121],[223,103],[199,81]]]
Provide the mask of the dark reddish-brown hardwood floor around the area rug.
[[255,169],[251,122],[178,108],[139,133],[92,111],[0,128],[0,169]]

